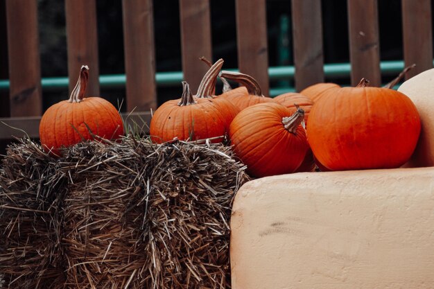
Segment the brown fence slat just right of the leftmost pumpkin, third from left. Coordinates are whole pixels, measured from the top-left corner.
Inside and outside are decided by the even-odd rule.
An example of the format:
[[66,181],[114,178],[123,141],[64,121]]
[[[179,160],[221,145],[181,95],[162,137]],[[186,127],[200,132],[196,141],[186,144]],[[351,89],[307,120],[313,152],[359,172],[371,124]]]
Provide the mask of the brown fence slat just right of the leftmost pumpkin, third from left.
[[127,110],[157,108],[152,0],[123,0]]

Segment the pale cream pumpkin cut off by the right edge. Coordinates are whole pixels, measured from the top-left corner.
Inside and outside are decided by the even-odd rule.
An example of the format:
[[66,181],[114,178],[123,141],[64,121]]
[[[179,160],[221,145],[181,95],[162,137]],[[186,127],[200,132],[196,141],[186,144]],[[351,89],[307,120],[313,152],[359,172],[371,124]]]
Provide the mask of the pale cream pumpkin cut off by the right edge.
[[413,76],[399,87],[417,107],[422,130],[415,152],[406,167],[434,166],[434,69]]

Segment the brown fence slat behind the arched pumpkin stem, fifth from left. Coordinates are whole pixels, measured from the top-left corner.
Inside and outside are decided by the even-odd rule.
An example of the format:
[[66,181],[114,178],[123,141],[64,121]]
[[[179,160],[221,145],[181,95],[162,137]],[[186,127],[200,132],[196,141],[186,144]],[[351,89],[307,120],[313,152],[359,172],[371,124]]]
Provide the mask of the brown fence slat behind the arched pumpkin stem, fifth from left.
[[236,0],[238,68],[253,76],[268,95],[268,44],[265,0]]

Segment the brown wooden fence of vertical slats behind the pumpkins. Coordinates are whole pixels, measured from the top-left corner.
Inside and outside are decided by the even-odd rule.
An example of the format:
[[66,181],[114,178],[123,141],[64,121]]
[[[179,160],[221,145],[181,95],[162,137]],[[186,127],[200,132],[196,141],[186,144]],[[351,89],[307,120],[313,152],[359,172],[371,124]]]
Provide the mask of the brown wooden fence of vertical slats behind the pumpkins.
[[[197,87],[206,67],[198,57],[211,59],[210,0],[180,0],[182,70]],[[266,0],[235,0],[238,68],[256,78],[268,91]],[[326,0],[323,0],[326,1]],[[430,0],[401,0],[404,62],[417,64],[408,77],[433,67]],[[381,84],[377,0],[347,0],[351,83],[362,77]],[[324,81],[320,0],[288,0],[293,21],[295,87]],[[123,0],[123,34],[127,111],[150,120],[157,106],[153,1]],[[65,0],[69,89],[81,64],[89,64],[88,94],[99,95],[98,43],[95,0]],[[37,0],[6,0],[10,94],[8,118],[0,121],[38,136],[42,115]],[[387,17],[387,16],[385,16]],[[6,44],[2,43],[1,46]],[[1,112],[2,110],[0,110]],[[3,108],[4,111],[4,108]],[[0,115],[1,116],[1,115]],[[20,135],[0,124],[0,139]]]

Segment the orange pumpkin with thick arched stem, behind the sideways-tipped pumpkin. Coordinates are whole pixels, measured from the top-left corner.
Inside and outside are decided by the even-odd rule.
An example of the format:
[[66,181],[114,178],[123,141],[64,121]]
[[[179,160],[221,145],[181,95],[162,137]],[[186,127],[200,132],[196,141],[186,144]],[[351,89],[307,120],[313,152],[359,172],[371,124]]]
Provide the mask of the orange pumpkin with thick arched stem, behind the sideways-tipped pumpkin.
[[232,71],[221,71],[220,77],[236,81],[247,89],[247,94],[245,94],[243,87],[238,87],[221,95],[240,110],[244,110],[245,107],[256,105],[257,103],[272,103],[274,101],[272,98],[263,96],[259,83],[252,76]]

